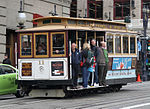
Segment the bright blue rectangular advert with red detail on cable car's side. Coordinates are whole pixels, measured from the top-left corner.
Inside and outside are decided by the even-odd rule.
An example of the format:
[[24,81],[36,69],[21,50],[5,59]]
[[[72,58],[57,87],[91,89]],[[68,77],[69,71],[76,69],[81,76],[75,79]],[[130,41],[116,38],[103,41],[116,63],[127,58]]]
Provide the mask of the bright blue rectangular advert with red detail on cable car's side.
[[113,58],[112,70],[131,69],[132,58]]

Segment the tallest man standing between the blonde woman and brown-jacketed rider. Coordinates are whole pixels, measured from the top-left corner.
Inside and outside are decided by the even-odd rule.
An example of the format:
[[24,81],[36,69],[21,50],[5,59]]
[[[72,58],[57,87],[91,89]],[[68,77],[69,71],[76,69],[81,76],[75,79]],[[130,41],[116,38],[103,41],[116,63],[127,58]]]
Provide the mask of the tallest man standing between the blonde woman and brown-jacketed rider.
[[99,86],[98,81],[98,57],[100,56],[99,47],[96,46],[96,40],[91,40],[91,50],[94,53],[96,62],[95,62],[95,72],[94,72],[94,86]]

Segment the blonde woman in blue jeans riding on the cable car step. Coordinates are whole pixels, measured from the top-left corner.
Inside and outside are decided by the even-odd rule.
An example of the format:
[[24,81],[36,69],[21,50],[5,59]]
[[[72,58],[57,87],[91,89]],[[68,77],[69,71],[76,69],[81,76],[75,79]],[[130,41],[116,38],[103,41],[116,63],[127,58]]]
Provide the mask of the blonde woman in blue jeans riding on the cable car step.
[[[90,45],[88,43],[83,44],[83,50],[82,50],[82,77],[83,77],[83,87],[86,88],[88,86],[88,80],[90,77],[92,66],[92,57],[93,53],[90,50]],[[92,67],[91,67],[92,68]]]

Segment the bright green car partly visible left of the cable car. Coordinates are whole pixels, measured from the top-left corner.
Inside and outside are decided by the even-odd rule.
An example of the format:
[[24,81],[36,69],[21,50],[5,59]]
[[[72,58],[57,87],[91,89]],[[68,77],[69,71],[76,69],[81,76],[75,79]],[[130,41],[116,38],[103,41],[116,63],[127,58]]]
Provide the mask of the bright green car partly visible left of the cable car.
[[24,92],[16,84],[18,69],[11,65],[0,64],[0,95],[14,94],[17,98],[24,97]]

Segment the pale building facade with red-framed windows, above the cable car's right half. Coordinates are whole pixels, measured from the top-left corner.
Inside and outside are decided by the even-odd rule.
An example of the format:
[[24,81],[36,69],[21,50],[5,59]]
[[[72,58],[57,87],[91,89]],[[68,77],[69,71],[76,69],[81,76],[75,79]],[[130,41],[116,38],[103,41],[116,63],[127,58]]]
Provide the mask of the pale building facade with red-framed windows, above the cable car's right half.
[[[124,22],[130,16],[130,27],[143,33],[143,7],[150,9],[150,0],[72,0],[70,15]],[[150,14],[149,14],[150,15]],[[150,23],[148,23],[150,27]],[[150,35],[150,31],[147,33]]]

